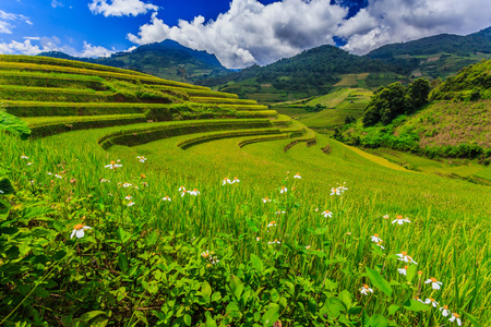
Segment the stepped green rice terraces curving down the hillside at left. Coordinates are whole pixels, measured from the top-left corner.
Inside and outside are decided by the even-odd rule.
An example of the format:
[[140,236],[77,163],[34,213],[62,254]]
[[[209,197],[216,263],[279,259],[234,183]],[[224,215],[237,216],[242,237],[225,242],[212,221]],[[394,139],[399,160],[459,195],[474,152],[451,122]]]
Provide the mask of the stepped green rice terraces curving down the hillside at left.
[[304,126],[290,128],[289,119],[277,119],[275,110],[254,100],[62,59],[0,56],[0,99],[8,113],[28,123],[34,137],[120,125],[117,137],[99,143],[105,147],[193,133],[200,142],[243,134],[261,135],[261,141],[270,140],[265,134],[314,138]]

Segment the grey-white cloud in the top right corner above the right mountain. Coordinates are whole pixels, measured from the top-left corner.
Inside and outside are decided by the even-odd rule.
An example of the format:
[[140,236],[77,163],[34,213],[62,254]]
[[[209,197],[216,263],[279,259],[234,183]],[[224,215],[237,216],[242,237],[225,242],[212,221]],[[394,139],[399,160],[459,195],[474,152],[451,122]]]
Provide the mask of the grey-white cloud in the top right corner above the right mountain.
[[466,35],[491,25],[491,7],[481,0],[376,0],[338,29],[343,48],[364,55],[385,44],[441,33]]

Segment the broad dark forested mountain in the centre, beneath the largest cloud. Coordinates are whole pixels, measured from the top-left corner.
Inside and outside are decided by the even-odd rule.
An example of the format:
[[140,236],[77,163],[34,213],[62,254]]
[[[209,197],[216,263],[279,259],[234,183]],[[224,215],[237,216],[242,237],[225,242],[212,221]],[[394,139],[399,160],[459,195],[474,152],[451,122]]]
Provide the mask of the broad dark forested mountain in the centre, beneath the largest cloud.
[[[387,73],[383,78],[388,75],[398,78],[397,74],[408,74],[409,71],[326,45],[265,66],[253,65],[226,76],[201,78],[197,84],[223,85],[219,90],[236,93],[240,97],[278,101],[287,100],[288,97],[306,98],[326,94],[343,80],[344,74],[366,74],[368,77],[370,73]],[[375,87],[380,82],[378,77],[373,75],[367,83]]]

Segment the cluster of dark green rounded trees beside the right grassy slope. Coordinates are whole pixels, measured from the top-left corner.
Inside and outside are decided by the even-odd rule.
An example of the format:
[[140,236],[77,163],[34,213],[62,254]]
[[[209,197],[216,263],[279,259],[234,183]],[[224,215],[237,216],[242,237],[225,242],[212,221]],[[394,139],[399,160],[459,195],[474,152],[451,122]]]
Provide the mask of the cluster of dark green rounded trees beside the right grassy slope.
[[399,82],[381,86],[364,109],[363,125],[390,124],[397,116],[415,111],[428,102],[430,83],[418,78],[407,87]]

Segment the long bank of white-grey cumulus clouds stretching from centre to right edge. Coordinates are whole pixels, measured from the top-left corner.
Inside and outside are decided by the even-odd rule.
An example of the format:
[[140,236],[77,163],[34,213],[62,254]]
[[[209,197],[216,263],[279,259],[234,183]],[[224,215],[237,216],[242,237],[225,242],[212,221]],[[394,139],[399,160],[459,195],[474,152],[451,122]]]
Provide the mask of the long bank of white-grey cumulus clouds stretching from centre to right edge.
[[[332,4],[333,2],[333,4]],[[347,41],[344,49],[362,55],[388,43],[439,33],[468,34],[491,25],[491,7],[482,0],[371,0],[347,19],[349,1],[232,0],[215,20],[203,16],[167,25],[158,13],[128,39],[136,45],[173,39],[215,53],[227,68],[267,64],[315,46]]]

